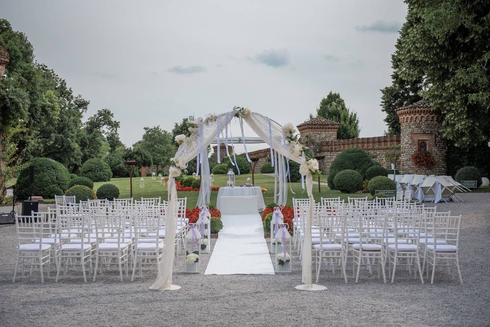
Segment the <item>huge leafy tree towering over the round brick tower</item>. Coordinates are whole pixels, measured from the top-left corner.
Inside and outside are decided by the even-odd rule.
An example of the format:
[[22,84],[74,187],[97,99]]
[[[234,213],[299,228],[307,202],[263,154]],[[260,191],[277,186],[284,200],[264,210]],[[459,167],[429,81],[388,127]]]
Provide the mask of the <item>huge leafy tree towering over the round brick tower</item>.
[[[423,97],[443,113],[442,133],[450,150],[464,151],[488,171],[490,164],[478,158],[481,153],[490,156],[486,146],[490,139],[490,2],[405,2],[407,21],[393,55],[394,89],[383,90],[388,132],[397,131],[394,107]],[[397,90],[402,94],[397,96]]]

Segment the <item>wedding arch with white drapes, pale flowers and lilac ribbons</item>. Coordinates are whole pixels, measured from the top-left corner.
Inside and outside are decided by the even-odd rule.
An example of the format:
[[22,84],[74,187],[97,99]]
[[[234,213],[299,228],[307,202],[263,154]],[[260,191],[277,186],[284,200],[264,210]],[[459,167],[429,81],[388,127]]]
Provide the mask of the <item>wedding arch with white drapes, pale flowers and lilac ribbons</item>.
[[[152,290],[177,290],[180,286],[172,284],[172,274],[175,257],[176,217],[177,217],[177,189],[175,178],[186,169],[187,163],[197,157],[197,174],[201,174],[201,189],[199,191],[198,206],[207,205],[210,202],[211,190],[209,187],[209,161],[208,145],[217,143],[225,144],[228,158],[232,161],[236,156],[229,153],[228,140],[230,139],[229,125],[233,118],[237,118],[240,124],[242,141],[247,160],[251,159],[247,153],[247,145],[244,141],[243,122],[246,122],[252,130],[271,148],[271,165],[274,165],[279,174],[279,204],[285,204],[287,197],[286,165],[285,160],[293,160],[300,164],[302,184],[306,186],[309,198],[309,208],[305,220],[305,238],[302,252],[302,283],[296,288],[302,290],[325,289],[323,286],[312,284],[311,276],[311,221],[313,219],[314,198],[312,194],[313,175],[320,174],[318,162],[313,152],[298,141],[297,131],[294,125],[287,123],[281,126],[272,119],[252,112],[247,108],[235,107],[232,111],[222,114],[211,114],[205,119],[198,118],[190,122],[190,135],[178,135],[176,141],[179,148],[175,157],[170,159],[173,166],[169,168],[168,179],[168,209],[165,226],[165,256],[161,262],[161,274],[157,277]],[[231,130],[230,130],[231,137]],[[217,160],[220,162],[220,151],[217,151]],[[172,250],[170,250],[172,249]]]

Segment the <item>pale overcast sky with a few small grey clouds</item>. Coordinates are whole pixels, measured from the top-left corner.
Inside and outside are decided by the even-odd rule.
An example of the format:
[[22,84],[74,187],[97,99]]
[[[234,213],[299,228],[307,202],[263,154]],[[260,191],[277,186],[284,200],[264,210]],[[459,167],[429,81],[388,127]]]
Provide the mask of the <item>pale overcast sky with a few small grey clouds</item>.
[[0,0],[36,59],[90,101],[86,117],[111,109],[128,146],[145,126],[235,105],[298,125],[330,90],[361,136],[382,135],[379,89],[406,11],[399,0]]

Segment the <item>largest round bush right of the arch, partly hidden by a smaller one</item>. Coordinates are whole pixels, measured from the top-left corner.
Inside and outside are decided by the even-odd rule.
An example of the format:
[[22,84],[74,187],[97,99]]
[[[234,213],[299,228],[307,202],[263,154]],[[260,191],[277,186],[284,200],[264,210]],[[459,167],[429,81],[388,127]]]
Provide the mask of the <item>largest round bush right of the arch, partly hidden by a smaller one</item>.
[[342,170],[355,170],[361,174],[361,178],[366,178],[366,171],[374,165],[371,155],[360,148],[346,149],[335,157],[330,165],[330,175],[328,175],[328,186],[335,189],[335,175]]

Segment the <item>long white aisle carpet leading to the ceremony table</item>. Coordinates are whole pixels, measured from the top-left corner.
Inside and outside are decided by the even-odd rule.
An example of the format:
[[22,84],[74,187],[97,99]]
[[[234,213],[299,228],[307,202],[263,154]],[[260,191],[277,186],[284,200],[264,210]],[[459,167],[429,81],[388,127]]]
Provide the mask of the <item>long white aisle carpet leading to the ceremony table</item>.
[[274,275],[260,215],[223,215],[221,220],[223,229],[204,274]]

